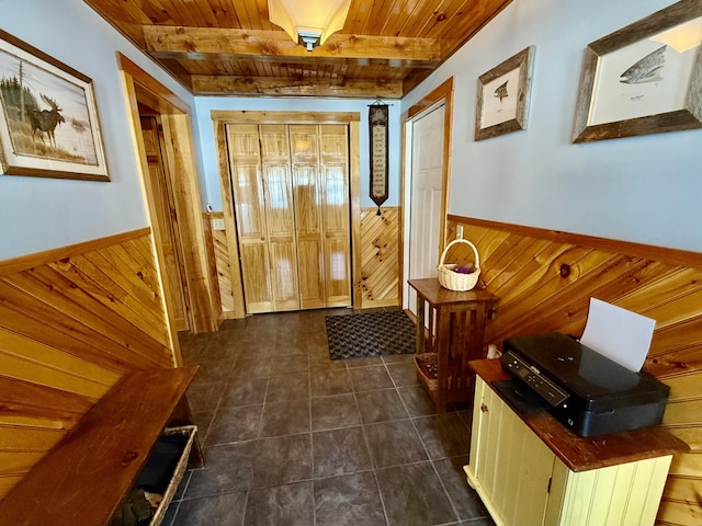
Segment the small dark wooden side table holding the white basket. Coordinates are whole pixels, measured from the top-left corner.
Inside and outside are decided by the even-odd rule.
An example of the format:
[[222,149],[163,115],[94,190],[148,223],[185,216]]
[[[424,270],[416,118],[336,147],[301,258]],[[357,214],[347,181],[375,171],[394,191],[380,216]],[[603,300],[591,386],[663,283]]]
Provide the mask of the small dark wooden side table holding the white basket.
[[417,291],[417,377],[440,412],[448,403],[471,403],[475,374],[468,362],[486,357],[485,323],[497,296],[485,289],[449,290],[437,278],[410,279],[408,284]]

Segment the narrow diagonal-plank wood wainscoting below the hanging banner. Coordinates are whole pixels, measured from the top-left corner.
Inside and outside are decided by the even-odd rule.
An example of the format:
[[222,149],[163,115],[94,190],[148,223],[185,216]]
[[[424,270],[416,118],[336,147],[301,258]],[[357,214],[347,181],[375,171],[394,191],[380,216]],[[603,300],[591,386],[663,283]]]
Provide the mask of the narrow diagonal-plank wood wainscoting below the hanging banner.
[[399,208],[361,209],[360,251],[361,308],[399,306]]

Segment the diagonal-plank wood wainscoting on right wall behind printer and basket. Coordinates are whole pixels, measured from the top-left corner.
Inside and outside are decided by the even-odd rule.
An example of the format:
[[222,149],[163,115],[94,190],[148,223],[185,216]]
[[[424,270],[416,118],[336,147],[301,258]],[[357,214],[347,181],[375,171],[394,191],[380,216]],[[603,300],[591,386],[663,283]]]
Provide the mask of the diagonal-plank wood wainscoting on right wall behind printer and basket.
[[[656,524],[702,524],[702,254],[460,216],[446,242],[458,226],[478,249],[479,286],[500,298],[486,343],[580,336],[591,297],[656,320],[644,368],[670,386],[664,426],[690,446],[673,457]],[[454,249],[446,261],[472,258]]]

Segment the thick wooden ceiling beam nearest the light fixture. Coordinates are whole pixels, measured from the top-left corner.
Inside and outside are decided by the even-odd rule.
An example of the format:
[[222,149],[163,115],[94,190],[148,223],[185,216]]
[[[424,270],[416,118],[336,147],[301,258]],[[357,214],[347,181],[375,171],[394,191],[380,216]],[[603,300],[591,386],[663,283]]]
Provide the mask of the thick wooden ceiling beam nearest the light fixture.
[[191,59],[228,56],[295,61],[348,59],[354,64],[382,61],[390,67],[434,68],[441,45],[434,38],[331,35],[324,46],[308,52],[283,31],[225,30],[220,27],[144,26],[146,50],[158,58]]

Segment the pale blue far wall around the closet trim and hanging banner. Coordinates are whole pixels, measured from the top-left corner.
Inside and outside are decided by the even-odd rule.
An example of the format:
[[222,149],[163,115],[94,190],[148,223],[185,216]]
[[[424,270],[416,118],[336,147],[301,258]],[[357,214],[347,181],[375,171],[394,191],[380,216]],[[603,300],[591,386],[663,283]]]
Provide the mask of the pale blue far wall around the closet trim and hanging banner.
[[[375,100],[350,99],[313,99],[313,98],[227,98],[200,96],[195,101],[197,119],[197,135],[202,152],[202,163],[206,186],[206,203],[216,211],[222,211],[222,193],[219,190],[219,167],[217,164],[217,149],[215,146],[213,110],[229,111],[267,111],[267,112],[358,112],[361,114],[361,206],[375,206],[369,197],[370,161],[369,161],[369,104]],[[400,125],[399,102],[384,101],[388,108],[388,198],[383,206],[399,205],[399,170],[400,170]]]

